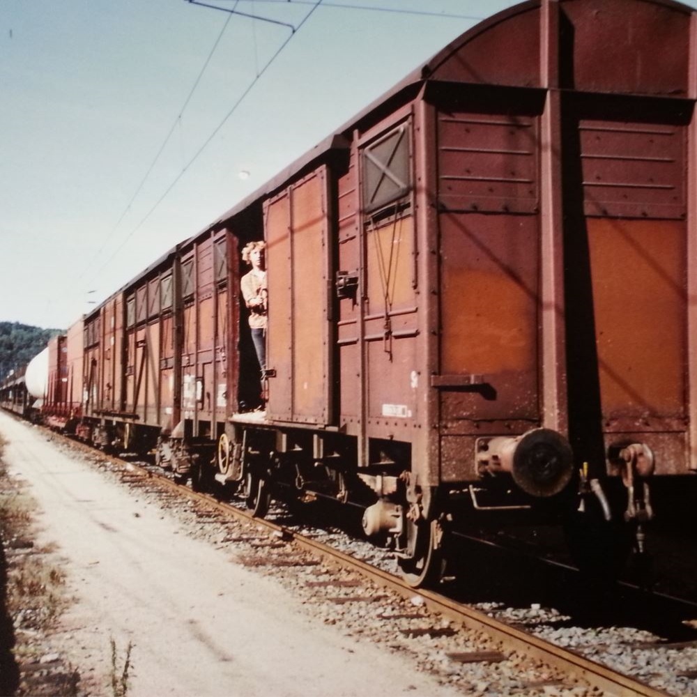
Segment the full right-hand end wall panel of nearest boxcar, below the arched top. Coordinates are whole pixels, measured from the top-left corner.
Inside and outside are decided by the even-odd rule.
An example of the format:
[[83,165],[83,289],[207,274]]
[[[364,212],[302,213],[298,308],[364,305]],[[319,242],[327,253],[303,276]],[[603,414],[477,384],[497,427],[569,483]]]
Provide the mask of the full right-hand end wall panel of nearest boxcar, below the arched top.
[[569,434],[581,460],[604,463],[608,447],[651,441],[658,474],[684,473],[691,109],[681,100],[567,101]]

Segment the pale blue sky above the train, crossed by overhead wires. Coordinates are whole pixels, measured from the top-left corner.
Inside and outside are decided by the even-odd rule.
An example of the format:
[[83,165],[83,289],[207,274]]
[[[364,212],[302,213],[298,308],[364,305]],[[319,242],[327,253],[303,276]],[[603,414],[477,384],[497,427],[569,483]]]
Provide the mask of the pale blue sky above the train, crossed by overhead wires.
[[273,22],[185,0],[0,1],[0,321],[66,328],[514,4],[201,1]]

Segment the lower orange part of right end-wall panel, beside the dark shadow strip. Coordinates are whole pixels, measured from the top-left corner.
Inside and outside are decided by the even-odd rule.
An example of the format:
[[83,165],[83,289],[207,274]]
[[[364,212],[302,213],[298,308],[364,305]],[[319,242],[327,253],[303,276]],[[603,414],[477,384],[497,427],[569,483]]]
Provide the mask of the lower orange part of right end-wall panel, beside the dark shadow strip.
[[663,432],[657,473],[682,469],[684,454],[674,456],[687,416],[684,223],[589,218],[579,234],[567,276],[569,404],[579,455],[604,457],[592,450],[600,431],[614,443],[636,431],[644,432],[639,442],[654,442],[650,434]]

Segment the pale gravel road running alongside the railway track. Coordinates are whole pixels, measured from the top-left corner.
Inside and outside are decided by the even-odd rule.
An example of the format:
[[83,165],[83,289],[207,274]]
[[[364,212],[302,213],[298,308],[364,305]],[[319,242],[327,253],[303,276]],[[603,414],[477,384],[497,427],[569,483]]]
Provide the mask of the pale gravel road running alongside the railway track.
[[[31,484],[40,544],[55,543],[75,598],[61,653],[86,694],[112,695],[132,645],[128,697],[452,697],[406,658],[312,623],[298,599],[187,536],[44,431],[0,413],[10,472]],[[112,661],[116,644],[116,664]]]

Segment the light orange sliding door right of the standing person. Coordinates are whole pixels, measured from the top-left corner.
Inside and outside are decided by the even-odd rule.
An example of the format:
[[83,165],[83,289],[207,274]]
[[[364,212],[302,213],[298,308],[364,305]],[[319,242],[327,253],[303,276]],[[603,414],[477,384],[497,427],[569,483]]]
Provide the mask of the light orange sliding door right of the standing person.
[[333,413],[327,186],[321,167],[266,209],[270,418],[326,424]]

